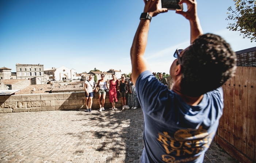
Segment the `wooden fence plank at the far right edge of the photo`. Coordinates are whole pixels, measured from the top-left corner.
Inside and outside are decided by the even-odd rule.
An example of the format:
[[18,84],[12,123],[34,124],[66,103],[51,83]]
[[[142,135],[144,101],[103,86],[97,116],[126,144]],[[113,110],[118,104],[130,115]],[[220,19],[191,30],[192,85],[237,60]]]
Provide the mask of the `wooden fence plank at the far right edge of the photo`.
[[[255,118],[256,118],[256,68],[248,67],[248,118],[247,118],[247,156],[255,160]],[[252,86],[252,87],[251,87]]]

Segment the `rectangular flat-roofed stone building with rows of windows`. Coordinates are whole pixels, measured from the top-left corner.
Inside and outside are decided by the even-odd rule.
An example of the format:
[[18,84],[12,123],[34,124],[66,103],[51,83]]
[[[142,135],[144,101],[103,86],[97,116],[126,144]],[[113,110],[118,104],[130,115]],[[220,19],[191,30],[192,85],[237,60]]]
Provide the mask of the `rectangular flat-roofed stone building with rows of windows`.
[[16,64],[17,79],[30,79],[38,77],[40,81],[45,81],[43,76],[43,65]]

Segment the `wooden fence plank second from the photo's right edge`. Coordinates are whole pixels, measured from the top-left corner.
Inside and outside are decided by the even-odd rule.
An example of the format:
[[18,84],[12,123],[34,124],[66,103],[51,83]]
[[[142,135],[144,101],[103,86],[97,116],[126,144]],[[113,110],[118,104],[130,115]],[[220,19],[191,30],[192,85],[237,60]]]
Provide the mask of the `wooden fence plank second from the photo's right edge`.
[[[248,85],[248,78],[247,78],[247,72],[248,72],[248,67],[243,67],[242,68],[242,85],[241,87],[243,88],[242,92],[242,152],[246,154],[246,149],[247,149],[247,85]],[[253,158],[251,158],[253,159]]]

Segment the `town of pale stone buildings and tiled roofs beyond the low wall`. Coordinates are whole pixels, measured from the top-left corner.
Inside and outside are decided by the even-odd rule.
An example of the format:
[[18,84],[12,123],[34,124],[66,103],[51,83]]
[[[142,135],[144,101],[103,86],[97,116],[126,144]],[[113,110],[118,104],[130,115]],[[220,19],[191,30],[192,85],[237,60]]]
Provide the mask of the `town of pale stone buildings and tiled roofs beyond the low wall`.
[[42,94],[83,92],[84,81],[89,76],[100,79],[104,74],[106,80],[112,79],[112,74],[120,80],[121,70],[110,69],[108,71],[90,71],[88,73],[76,73],[74,68],[66,66],[59,68],[44,68],[41,64],[16,64],[16,72],[10,68],[0,68],[0,90],[15,90],[15,94]]

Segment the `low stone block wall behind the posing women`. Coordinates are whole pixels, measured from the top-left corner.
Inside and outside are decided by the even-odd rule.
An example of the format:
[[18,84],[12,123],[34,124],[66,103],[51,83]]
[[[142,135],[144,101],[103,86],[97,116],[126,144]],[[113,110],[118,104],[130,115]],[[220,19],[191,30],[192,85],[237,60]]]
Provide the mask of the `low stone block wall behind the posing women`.
[[[85,109],[85,102],[84,92],[6,95],[0,96],[0,113]],[[122,99],[118,94],[115,107],[121,106]],[[108,93],[104,107],[107,109],[112,107]],[[98,93],[93,96],[92,109],[99,109]]]

